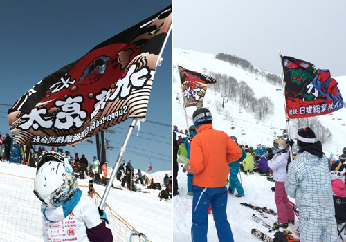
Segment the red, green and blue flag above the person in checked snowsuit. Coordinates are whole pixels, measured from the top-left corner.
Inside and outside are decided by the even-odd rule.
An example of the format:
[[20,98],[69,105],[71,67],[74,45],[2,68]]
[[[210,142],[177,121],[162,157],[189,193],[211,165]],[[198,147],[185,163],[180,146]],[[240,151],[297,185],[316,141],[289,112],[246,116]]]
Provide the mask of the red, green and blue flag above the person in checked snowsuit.
[[307,118],[325,115],[343,107],[343,97],[331,78],[329,70],[322,70],[309,62],[281,56],[284,71],[286,117]]

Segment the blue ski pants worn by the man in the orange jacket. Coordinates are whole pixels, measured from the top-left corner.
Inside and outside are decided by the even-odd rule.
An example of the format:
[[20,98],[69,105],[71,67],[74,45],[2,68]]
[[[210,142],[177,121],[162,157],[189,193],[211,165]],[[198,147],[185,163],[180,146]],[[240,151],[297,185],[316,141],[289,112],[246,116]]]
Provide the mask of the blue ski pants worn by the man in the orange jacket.
[[192,242],[206,242],[208,233],[208,207],[212,206],[212,216],[220,242],[233,242],[230,223],[227,220],[227,187],[192,187]]

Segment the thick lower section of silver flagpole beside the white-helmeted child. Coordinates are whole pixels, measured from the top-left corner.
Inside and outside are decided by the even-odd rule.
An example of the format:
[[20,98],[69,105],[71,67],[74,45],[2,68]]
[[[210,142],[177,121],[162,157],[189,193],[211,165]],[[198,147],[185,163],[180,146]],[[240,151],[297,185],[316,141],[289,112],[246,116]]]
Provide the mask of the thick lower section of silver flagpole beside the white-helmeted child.
[[113,181],[116,178],[116,171],[118,171],[120,161],[122,159],[122,156],[125,153],[127,142],[129,141],[129,137],[131,136],[132,131],[136,128],[135,125],[136,125],[137,120],[138,120],[138,118],[134,118],[134,120],[132,120],[131,125],[129,127],[129,131],[127,131],[127,136],[124,140],[122,147],[120,148],[118,158],[116,159],[116,164],[113,167],[113,171],[111,171],[111,176],[109,178],[109,182],[107,184],[106,189],[104,189],[104,194],[102,196],[102,200],[101,200],[100,205],[99,205],[101,210],[104,209],[104,205],[106,204],[106,200],[107,200],[107,197],[109,195],[109,191],[111,190],[111,185],[113,185]]

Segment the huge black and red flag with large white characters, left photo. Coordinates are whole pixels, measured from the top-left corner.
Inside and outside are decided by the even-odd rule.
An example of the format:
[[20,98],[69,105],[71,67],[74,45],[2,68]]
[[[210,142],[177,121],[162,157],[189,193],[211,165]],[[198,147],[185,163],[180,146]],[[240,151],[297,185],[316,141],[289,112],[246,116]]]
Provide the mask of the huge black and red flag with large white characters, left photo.
[[45,77],[8,111],[17,145],[74,145],[145,118],[154,73],[172,25],[172,5]]

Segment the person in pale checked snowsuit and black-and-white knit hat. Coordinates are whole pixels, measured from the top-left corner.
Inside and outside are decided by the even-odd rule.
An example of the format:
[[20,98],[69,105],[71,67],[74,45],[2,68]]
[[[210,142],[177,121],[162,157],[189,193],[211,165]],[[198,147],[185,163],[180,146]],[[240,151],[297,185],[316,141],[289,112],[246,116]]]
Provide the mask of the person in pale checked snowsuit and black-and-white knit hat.
[[336,242],[333,190],[322,144],[309,127],[299,129],[295,137],[297,144],[290,140],[289,145],[297,152],[297,158],[289,164],[284,186],[299,209],[300,240]]

